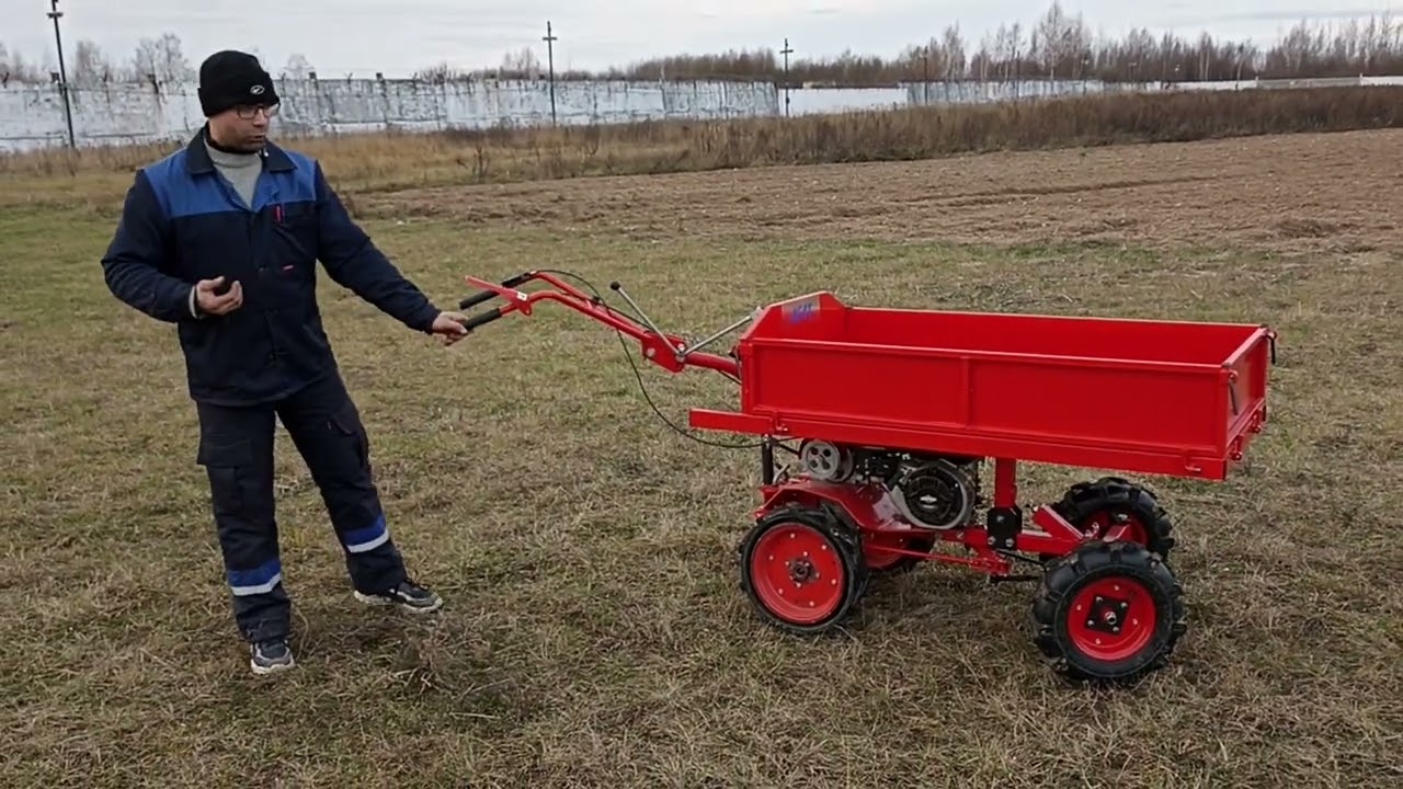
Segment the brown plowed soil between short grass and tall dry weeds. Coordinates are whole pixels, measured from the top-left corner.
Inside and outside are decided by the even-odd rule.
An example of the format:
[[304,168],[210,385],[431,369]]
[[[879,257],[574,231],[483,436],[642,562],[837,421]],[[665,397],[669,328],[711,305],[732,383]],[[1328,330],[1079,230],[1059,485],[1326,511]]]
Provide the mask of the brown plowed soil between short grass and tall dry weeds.
[[638,237],[838,237],[1367,251],[1403,244],[1403,131],[766,167],[363,195],[448,216]]

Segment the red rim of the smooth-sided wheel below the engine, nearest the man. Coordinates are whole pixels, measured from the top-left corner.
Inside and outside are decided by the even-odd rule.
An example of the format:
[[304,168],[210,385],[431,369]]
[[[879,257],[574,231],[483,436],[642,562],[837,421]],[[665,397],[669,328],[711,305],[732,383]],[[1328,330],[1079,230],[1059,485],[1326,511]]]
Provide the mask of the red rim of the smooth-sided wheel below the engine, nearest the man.
[[846,594],[846,571],[833,543],[814,526],[780,524],[751,553],[756,597],[776,616],[812,625],[833,615]]

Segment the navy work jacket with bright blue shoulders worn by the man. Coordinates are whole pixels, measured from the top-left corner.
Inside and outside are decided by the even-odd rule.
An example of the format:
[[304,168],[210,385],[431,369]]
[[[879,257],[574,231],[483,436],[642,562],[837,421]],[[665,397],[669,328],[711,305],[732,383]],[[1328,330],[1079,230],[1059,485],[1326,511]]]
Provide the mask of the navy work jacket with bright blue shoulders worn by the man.
[[[321,164],[268,143],[253,205],[215,170],[202,129],[136,173],[102,271],[122,302],[175,324],[195,400],[278,400],[335,369],[317,309],[316,264],[417,331],[439,309],[376,248]],[[201,279],[239,281],[244,303],[199,314]]]

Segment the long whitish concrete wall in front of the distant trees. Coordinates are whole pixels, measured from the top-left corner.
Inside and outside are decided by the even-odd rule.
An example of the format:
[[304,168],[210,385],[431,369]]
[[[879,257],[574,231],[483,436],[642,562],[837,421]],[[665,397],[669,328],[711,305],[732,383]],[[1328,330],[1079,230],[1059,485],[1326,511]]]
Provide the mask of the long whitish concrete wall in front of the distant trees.
[[[1323,84],[1403,84],[1403,77],[1360,77],[1302,83],[1176,83],[1173,90],[1243,90]],[[1122,90],[1162,90],[1157,83],[1097,81],[915,83],[892,88],[793,88],[767,81],[558,81],[560,124],[619,124],[675,118],[807,115],[890,110],[912,104],[968,104]],[[551,88],[544,80],[418,83],[411,80],[283,80],[278,125],[293,133],[379,129],[438,131],[498,125],[546,125]],[[195,86],[109,84],[70,95],[79,145],[177,140],[203,124]],[[0,152],[63,146],[67,124],[58,86],[0,87]]]

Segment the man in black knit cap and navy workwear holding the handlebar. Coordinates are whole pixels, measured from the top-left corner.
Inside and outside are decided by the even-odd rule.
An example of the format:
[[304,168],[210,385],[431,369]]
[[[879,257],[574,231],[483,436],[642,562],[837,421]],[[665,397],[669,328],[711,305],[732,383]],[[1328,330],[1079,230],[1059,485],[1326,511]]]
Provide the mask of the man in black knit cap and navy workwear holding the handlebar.
[[464,316],[435,307],[370,243],[320,163],[268,142],[279,100],[257,58],[201,65],[206,125],[136,174],[102,257],[122,302],[175,326],[199,420],[234,621],[255,674],[293,665],[274,518],[274,420],[307,463],[356,599],[435,611],[407,574],[372,482],[369,444],[316,300],[316,261],[337,284],[453,344]]

